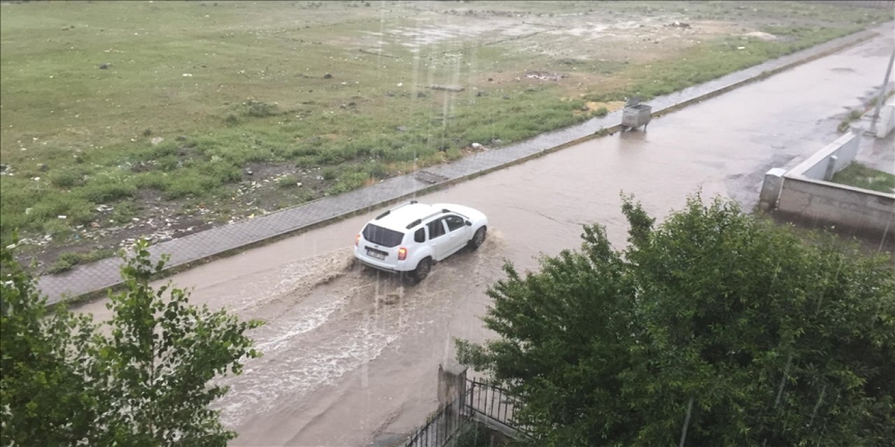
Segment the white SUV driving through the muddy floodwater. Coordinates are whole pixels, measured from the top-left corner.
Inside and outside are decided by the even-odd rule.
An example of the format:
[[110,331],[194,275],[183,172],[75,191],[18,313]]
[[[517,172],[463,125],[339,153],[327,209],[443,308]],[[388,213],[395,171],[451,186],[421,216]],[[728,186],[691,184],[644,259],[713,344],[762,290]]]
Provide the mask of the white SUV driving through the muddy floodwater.
[[376,216],[354,240],[354,257],[365,266],[409,274],[422,281],[433,263],[464,247],[478,249],[488,218],[470,207],[411,200]]

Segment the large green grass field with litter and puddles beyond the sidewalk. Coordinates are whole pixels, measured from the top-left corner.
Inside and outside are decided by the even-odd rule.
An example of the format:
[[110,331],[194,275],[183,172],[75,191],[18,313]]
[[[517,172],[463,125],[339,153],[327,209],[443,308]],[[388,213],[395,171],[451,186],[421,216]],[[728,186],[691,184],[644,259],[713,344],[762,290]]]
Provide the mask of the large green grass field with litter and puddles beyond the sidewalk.
[[[354,190],[473,142],[499,148],[892,15],[795,2],[143,1],[3,3],[0,18],[0,239],[18,230],[20,253],[58,271],[142,234]],[[65,250],[82,254],[54,263]]]

